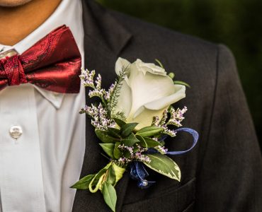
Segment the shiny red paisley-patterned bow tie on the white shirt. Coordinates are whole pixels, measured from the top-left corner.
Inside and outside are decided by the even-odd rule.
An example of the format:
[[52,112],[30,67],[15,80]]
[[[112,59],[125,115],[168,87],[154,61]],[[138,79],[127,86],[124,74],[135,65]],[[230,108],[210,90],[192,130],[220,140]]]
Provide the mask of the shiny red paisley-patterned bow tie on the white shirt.
[[53,30],[21,55],[5,53],[0,53],[0,90],[32,83],[58,93],[79,93],[81,54],[67,26]]

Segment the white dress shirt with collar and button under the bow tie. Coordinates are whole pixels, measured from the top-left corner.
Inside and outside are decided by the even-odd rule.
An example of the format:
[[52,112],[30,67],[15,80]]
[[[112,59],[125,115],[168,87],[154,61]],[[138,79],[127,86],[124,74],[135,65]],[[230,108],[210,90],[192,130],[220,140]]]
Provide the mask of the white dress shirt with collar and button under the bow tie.
[[[64,24],[84,58],[80,0],[63,0],[28,37],[13,47],[0,45],[0,50],[22,54]],[[84,159],[85,116],[79,114],[84,105],[82,86],[79,94],[30,84],[0,91],[0,212],[72,211],[76,191],[69,187],[79,179]]]

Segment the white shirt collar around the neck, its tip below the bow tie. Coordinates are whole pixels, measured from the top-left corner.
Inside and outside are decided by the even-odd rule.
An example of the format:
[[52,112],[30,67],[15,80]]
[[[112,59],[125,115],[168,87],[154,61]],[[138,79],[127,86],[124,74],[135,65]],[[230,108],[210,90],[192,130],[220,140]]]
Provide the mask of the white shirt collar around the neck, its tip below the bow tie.
[[[77,11],[77,12],[76,12]],[[12,47],[1,45],[0,50],[4,51],[14,48],[19,54],[25,52],[26,49],[30,48],[35,42],[38,42],[42,37],[45,37],[47,33],[50,33],[55,28],[61,25],[69,26],[74,39],[76,40],[76,45],[79,47],[81,57],[84,58],[84,29],[83,29],[83,20],[82,20],[82,6],[80,0],[62,0],[59,6],[56,8],[55,12],[45,20],[42,25],[30,33],[20,42],[16,43]],[[84,65],[84,60],[82,60],[82,66]],[[35,86],[35,89],[46,98],[52,105],[59,109],[62,105],[64,99],[64,93],[55,93],[49,90],[43,90]],[[72,94],[69,94],[72,95]]]

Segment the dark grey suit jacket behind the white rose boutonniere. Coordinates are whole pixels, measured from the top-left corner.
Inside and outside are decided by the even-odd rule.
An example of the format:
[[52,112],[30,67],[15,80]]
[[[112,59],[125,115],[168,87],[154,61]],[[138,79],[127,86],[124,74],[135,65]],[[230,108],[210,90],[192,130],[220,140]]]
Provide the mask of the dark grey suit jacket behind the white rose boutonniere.
[[[125,173],[118,183],[117,211],[262,211],[261,153],[232,53],[215,45],[83,1],[85,65],[103,76],[103,86],[115,79],[115,61],[159,59],[192,87],[176,107],[188,107],[183,126],[200,134],[198,145],[174,156],[181,182],[151,173],[156,180],[139,189]],[[86,100],[90,104],[89,98]],[[166,141],[169,150],[190,146],[181,133]],[[90,120],[86,121],[86,153],[81,177],[108,161]],[[77,191],[73,211],[109,211],[100,192]]]

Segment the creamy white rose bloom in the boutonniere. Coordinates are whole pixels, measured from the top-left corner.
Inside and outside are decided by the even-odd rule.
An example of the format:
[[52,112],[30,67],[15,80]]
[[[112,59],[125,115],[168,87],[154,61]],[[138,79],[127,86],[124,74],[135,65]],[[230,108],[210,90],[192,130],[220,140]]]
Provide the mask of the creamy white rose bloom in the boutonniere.
[[123,66],[129,66],[130,73],[120,90],[116,111],[124,112],[127,122],[137,122],[136,129],[152,124],[153,117],[163,116],[171,104],[186,97],[186,87],[174,85],[166,71],[155,64],[137,59],[130,64],[118,58],[115,72],[119,75]]

